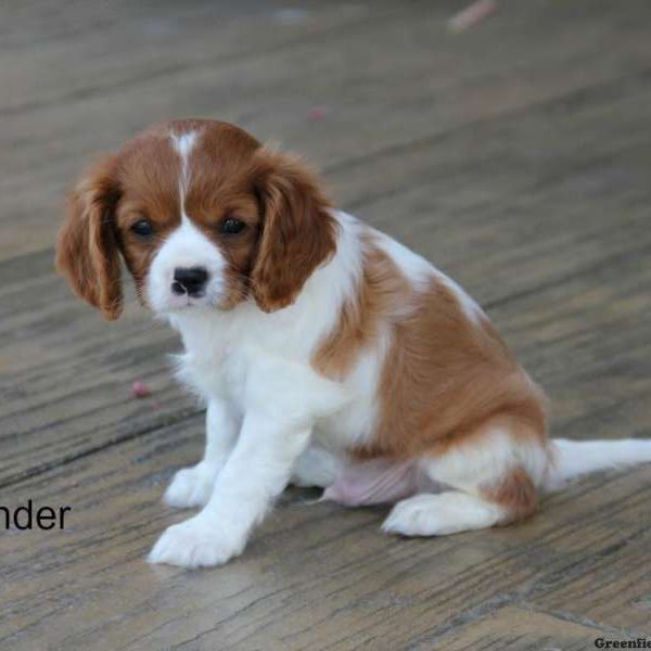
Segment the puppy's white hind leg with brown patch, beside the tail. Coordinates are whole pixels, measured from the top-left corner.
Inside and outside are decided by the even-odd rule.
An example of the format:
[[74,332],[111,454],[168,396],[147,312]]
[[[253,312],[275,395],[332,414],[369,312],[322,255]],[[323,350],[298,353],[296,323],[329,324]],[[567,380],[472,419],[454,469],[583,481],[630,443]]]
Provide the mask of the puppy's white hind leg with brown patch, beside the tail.
[[384,532],[445,536],[522,520],[538,507],[548,452],[534,433],[500,423],[421,463],[432,480],[451,489],[398,502]]

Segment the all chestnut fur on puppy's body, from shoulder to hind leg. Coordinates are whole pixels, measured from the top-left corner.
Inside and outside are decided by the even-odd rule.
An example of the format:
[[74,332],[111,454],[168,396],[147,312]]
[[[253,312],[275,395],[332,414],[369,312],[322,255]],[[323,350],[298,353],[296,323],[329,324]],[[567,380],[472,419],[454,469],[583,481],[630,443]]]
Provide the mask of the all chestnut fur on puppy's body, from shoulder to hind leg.
[[[366,241],[356,295],[312,363],[344,379],[365,347],[388,328],[391,344],[379,382],[379,414],[371,442],[350,454],[405,460],[441,457],[461,442],[482,445],[498,425],[515,441],[546,447],[545,399],[487,318],[472,321],[439,278],[417,290],[374,243]],[[509,520],[535,510],[537,495],[524,471],[484,492]]]

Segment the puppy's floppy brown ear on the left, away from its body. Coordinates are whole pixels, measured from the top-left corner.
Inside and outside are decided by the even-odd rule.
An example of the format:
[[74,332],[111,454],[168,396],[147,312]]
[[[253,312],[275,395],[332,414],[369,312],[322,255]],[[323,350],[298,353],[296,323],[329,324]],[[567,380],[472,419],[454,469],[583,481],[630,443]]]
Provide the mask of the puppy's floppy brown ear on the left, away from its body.
[[56,243],[56,268],[73,291],[107,319],[122,312],[120,264],[114,210],[119,189],[115,158],[95,165],[69,194]]

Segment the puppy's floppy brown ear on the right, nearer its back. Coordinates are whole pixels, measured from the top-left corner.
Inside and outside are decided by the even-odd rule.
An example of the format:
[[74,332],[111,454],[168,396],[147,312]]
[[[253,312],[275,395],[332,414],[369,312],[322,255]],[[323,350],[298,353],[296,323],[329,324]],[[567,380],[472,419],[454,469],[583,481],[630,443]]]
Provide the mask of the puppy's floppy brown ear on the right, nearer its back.
[[263,232],[251,272],[259,308],[291,305],[336,248],[336,221],[316,175],[302,161],[266,149],[255,154]]

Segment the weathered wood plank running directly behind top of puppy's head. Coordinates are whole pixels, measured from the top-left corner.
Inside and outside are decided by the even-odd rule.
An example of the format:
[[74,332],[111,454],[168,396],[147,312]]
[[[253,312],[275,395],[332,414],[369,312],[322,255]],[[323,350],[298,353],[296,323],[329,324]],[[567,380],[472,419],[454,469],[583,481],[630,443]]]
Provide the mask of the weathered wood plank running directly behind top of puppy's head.
[[[512,4],[484,37],[468,41],[435,38],[445,25],[441,9],[431,9],[429,20],[414,24],[422,10],[417,4],[379,25],[362,21],[344,30],[335,50],[331,39],[306,39],[297,48],[217,69],[199,66],[175,79],[173,97],[171,81],[156,77],[132,89],[116,88],[115,97],[81,98],[65,111],[48,111],[42,119],[28,113],[8,116],[7,137],[0,143],[18,155],[0,168],[3,215],[21,227],[8,226],[0,256],[51,242],[59,212],[53,206],[60,205],[64,188],[92,153],[115,148],[152,119],[188,113],[190,106],[192,113],[233,119],[264,138],[285,141],[318,164],[334,166],[360,153],[374,155],[469,122],[521,111],[576,88],[608,87],[622,76],[644,74],[649,41],[641,22],[614,21],[610,12],[577,12],[573,17],[556,4],[537,7],[539,20],[552,21],[554,11],[561,11],[559,51],[549,49],[542,31],[524,28],[525,17],[531,22],[524,7]],[[410,48],[405,47],[406,34]],[[498,51],[486,47],[496,38],[501,43]],[[390,58],[382,55],[387,50]],[[370,66],[363,71],[363,86],[359,69],[342,68],[344,55]],[[592,63],[596,56],[598,66]],[[505,59],[520,63],[505,69]],[[388,85],[380,95],[379,85]],[[314,103],[332,104],[322,124],[305,117]],[[257,108],[260,104],[264,110]],[[80,130],[88,115],[103,128]],[[49,163],[52,157],[55,167]]]

